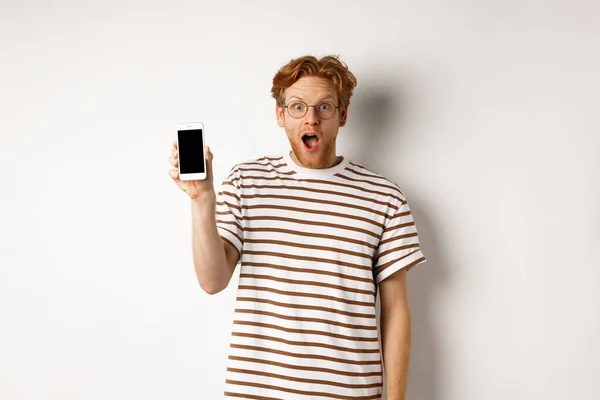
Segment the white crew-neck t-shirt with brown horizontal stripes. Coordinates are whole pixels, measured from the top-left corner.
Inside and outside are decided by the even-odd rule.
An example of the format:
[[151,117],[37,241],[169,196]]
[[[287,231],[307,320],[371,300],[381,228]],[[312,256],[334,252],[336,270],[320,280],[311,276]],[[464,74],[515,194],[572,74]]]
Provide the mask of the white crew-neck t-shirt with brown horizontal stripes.
[[380,399],[377,284],[426,261],[398,185],[263,157],[223,182],[217,229],[241,254],[225,396]]

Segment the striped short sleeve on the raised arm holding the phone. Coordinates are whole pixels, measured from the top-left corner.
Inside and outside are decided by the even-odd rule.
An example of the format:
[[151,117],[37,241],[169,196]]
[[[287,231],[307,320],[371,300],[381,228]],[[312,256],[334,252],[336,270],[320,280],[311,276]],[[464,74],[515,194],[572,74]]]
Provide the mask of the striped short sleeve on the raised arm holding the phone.
[[217,231],[222,239],[231,243],[242,254],[244,245],[242,223],[241,177],[239,168],[233,167],[221,183],[217,193]]

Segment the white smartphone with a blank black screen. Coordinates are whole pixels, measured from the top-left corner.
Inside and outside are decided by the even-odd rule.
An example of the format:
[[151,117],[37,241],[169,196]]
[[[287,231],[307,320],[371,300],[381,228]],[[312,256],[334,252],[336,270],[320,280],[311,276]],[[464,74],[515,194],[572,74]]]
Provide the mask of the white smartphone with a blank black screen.
[[205,135],[202,122],[185,122],[177,124],[179,179],[182,181],[206,179],[204,142]]

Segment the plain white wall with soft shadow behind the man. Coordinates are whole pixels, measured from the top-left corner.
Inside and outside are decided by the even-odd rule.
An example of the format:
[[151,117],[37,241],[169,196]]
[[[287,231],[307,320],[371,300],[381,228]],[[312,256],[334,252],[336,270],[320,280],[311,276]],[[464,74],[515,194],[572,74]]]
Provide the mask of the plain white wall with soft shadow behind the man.
[[396,181],[409,400],[600,398],[600,5],[2,1],[0,398],[218,399],[237,274],[196,282],[175,125],[215,178],[288,149],[271,80],[339,54],[338,154]]

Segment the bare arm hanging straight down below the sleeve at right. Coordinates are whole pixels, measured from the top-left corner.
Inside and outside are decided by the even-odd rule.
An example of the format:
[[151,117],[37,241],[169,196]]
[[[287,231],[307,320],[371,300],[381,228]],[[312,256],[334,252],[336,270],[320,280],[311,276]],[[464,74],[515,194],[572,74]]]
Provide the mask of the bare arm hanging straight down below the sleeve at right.
[[379,284],[380,325],[387,400],[405,400],[410,360],[411,317],[406,269]]

